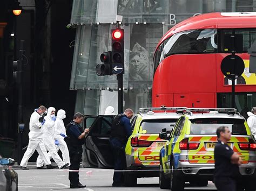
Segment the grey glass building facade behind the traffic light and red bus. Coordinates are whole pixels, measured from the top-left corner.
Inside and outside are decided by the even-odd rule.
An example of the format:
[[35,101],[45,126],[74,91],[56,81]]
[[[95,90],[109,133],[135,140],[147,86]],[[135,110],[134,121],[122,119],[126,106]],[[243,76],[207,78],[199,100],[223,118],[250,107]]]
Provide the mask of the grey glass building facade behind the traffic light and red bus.
[[117,114],[116,76],[97,76],[100,54],[111,50],[111,29],[123,16],[125,44],[124,109],[151,107],[153,54],[163,35],[184,19],[208,12],[256,11],[255,0],[73,0],[76,27],[70,89],[77,91],[76,111]]

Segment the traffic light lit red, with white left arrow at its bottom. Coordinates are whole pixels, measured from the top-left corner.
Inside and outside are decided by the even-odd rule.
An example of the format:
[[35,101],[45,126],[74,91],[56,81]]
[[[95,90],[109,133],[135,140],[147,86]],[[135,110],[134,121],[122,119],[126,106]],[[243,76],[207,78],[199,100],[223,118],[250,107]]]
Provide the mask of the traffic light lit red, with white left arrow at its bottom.
[[112,29],[112,74],[124,74],[124,30]]

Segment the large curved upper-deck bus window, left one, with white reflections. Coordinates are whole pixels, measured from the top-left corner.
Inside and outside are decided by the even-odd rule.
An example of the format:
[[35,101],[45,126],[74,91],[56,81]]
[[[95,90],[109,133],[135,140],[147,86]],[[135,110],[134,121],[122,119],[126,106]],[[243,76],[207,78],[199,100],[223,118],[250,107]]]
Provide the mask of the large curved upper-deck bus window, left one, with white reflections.
[[189,30],[174,34],[163,48],[166,56],[172,54],[216,53],[217,30]]

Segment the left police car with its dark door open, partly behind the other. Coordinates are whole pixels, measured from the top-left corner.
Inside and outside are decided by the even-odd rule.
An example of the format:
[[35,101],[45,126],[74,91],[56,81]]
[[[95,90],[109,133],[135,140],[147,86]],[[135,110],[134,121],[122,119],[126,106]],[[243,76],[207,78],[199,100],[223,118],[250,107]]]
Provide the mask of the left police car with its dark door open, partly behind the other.
[[[137,178],[158,176],[159,151],[166,140],[162,129],[171,131],[186,108],[140,108],[131,121],[132,135],[126,147],[125,185],[134,186]],[[167,112],[168,111],[168,112]],[[85,116],[84,128],[90,127],[83,152],[84,167],[113,168],[110,148],[111,122],[114,116]]]

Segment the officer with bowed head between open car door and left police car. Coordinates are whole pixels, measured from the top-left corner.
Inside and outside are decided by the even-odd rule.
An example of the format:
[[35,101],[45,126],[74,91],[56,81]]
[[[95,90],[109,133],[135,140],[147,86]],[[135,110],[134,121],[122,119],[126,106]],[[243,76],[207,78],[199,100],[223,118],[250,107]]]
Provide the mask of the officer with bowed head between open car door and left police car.
[[112,186],[118,187],[124,185],[122,171],[125,169],[125,145],[127,139],[132,134],[130,119],[133,116],[132,109],[126,109],[123,114],[114,117],[110,134],[110,145],[114,155],[114,175]]

